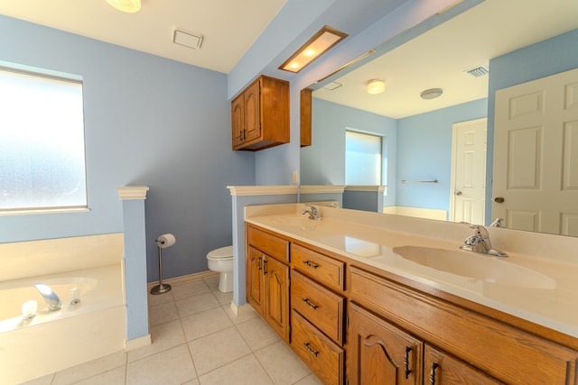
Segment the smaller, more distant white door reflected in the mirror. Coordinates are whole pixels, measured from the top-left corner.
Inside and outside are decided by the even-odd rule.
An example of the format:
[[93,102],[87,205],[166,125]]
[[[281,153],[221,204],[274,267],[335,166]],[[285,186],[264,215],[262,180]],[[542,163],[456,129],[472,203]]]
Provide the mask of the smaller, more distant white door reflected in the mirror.
[[484,224],[488,119],[452,125],[450,220]]

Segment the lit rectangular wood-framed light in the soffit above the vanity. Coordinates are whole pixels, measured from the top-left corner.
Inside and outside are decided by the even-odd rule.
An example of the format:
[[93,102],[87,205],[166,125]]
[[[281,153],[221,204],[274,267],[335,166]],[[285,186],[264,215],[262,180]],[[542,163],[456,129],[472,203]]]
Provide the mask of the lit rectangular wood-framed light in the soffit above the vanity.
[[347,33],[337,31],[325,25],[319,32],[315,33],[309,41],[303,44],[299,50],[296,50],[291,58],[285,60],[279,69],[297,73],[348,36]]

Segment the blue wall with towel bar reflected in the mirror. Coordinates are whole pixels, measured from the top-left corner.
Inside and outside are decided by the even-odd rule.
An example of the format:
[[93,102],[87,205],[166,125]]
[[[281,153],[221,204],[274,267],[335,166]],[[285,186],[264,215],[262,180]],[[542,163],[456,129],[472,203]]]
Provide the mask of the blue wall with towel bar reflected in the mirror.
[[[484,98],[398,120],[396,206],[450,209],[452,124],[487,114]],[[403,179],[439,183],[402,184]]]

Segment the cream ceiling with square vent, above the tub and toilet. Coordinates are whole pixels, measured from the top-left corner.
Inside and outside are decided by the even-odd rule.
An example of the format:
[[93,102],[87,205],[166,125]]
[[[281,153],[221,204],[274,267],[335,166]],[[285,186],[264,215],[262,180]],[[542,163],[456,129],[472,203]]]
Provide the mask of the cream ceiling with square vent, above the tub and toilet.
[[[105,0],[1,0],[0,14],[228,73],[286,0],[142,0],[136,14]],[[200,50],[172,42],[174,28],[204,36]]]

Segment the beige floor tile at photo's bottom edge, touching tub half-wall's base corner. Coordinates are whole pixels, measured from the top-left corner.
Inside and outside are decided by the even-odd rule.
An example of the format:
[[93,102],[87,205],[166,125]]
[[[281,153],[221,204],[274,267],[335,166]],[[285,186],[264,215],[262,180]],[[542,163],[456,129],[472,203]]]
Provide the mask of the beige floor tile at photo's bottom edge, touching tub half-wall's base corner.
[[128,363],[126,385],[180,385],[197,377],[186,344]]

